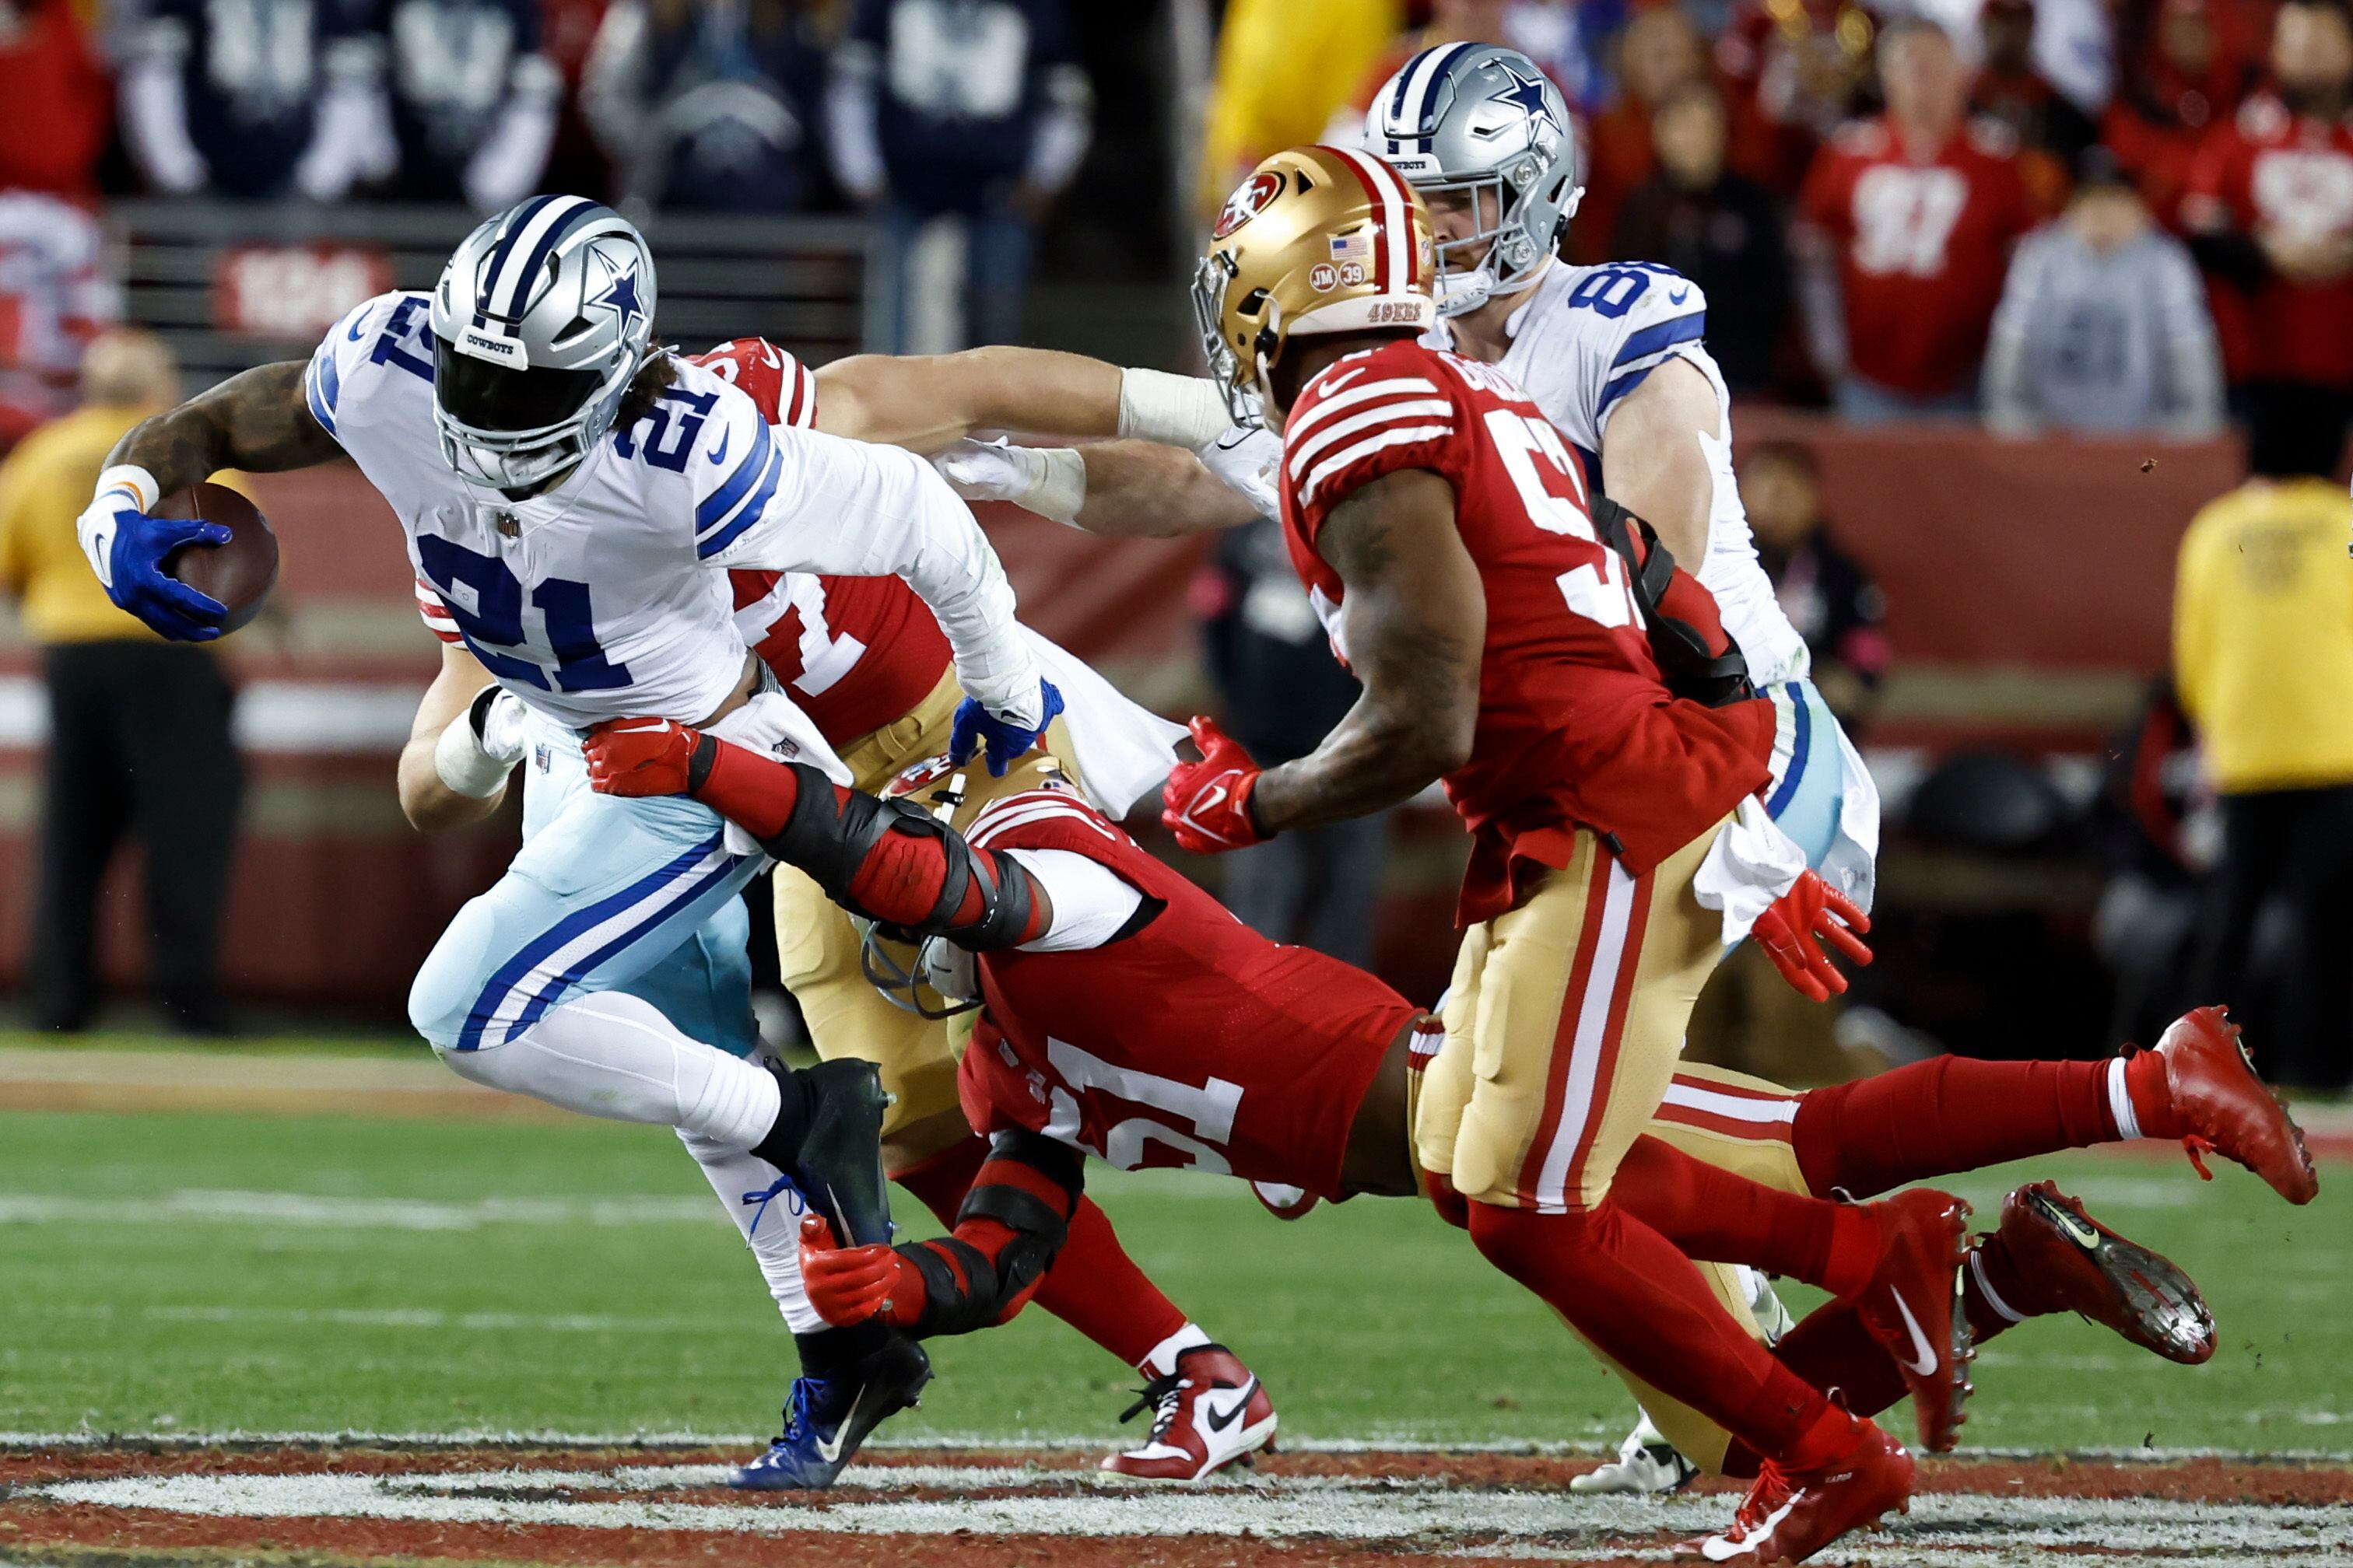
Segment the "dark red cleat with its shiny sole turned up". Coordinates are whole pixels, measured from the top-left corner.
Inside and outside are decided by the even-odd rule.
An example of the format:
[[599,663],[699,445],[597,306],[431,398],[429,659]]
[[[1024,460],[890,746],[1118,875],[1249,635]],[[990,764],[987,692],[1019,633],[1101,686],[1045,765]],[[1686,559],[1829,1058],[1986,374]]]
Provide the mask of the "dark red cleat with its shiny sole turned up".
[[2184,1366],[2214,1354],[2214,1314],[2191,1276],[2094,1220],[2057,1185],[2031,1182],[2002,1199],[1993,1241],[2033,1286],[2038,1307],[2080,1312]]

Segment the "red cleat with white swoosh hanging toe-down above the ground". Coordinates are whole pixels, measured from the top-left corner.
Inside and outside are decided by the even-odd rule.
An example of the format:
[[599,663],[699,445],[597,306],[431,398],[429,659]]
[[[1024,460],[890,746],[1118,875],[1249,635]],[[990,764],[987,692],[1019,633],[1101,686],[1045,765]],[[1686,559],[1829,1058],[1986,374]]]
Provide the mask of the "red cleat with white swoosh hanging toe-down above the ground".
[[1887,1347],[1913,1394],[1920,1446],[1944,1453],[1969,1399],[1969,1319],[1960,1312],[1969,1206],[1951,1192],[1913,1187],[1871,1204],[1880,1215],[1880,1267],[1854,1298],[1871,1338]]

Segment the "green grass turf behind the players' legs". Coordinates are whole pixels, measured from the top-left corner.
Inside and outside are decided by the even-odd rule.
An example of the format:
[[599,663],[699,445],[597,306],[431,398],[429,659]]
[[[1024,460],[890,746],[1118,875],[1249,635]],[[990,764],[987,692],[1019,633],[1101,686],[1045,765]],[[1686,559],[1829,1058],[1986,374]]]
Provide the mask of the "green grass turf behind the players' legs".
[[[1981,1356],[1969,1443],[2353,1450],[2353,1208],[2179,1159],[2035,1173],[2184,1262],[2224,1345],[2184,1371],[2028,1324]],[[1991,1218],[2017,1180],[1958,1187]],[[1280,1225],[1212,1178],[1094,1168],[1094,1190],[1266,1378],[1285,1436],[1605,1448],[1626,1425],[1617,1385],[1417,1204]],[[760,1432],[793,1366],[673,1138],[593,1121],[0,1114],[0,1284],[12,1432]],[[934,1361],[887,1434],[1108,1439],[1132,1382],[1038,1312]]]

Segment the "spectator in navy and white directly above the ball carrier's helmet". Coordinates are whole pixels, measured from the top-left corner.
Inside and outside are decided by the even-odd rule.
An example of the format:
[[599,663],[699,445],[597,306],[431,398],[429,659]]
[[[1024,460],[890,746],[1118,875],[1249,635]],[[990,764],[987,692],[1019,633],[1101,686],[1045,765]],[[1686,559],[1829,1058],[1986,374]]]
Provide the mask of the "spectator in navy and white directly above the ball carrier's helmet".
[[384,0],[386,89],[407,202],[513,207],[539,188],[562,80],[539,0]]

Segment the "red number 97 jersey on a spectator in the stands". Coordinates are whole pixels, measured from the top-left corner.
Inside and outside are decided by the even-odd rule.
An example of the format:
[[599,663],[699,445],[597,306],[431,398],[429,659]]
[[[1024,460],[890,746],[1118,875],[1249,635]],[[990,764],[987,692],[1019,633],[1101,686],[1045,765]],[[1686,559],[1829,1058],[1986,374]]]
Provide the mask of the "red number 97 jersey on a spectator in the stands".
[[1849,125],[1814,155],[1798,207],[1838,240],[1854,371],[1904,393],[1965,388],[2009,247],[2040,216],[2009,132],[1974,125],[1913,162],[1885,120]]

